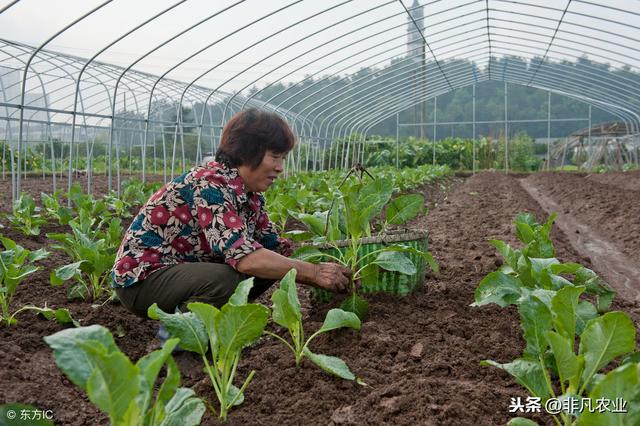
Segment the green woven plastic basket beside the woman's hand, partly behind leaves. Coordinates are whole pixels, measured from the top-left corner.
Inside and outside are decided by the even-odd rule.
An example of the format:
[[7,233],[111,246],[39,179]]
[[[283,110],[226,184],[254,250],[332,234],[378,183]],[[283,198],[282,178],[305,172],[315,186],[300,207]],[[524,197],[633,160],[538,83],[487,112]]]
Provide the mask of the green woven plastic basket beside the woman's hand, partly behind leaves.
[[[427,251],[429,246],[428,234],[426,231],[397,231],[385,234],[384,236],[373,236],[367,238],[361,238],[359,255],[364,256],[371,253],[374,250],[378,250],[385,245],[403,244],[418,250]],[[348,240],[336,241],[340,251],[344,253],[347,247],[351,244]],[[327,245],[317,247],[320,251],[329,255],[336,256],[336,248]],[[425,268],[427,267],[425,260],[422,256],[405,253],[414,265],[416,265],[416,273],[413,275],[405,275],[399,272],[385,271],[380,269],[377,283],[363,284],[360,291],[363,293],[375,293],[384,292],[390,294],[396,294],[399,296],[406,296],[414,291],[422,284],[424,278]],[[323,294],[327,293],[327,294]],[[316,291],[314,289],[314,296],[320,300],[327,300],[327,296],[331,293],[326,291]]]

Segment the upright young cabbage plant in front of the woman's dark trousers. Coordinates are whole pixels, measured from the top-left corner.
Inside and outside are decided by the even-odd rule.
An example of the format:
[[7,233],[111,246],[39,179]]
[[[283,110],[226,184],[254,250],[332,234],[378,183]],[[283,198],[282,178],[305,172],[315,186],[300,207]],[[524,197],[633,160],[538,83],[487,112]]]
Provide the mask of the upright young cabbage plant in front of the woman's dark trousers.
[[149,317],[160,320],[170,335],[180,338],[180,347],[202,357],[220,403],[218,418],[222,421],[232,407],[244,401],[244,391],[255,371],[237,388],[233,381],[240,356],[246,346],[260,338],[269,318],[267,307],[247,303],[251,287],[253,278],[242,281],[220,309],[194,302],[187,305],[190,312],[169,314],[154,303],[148,311]]

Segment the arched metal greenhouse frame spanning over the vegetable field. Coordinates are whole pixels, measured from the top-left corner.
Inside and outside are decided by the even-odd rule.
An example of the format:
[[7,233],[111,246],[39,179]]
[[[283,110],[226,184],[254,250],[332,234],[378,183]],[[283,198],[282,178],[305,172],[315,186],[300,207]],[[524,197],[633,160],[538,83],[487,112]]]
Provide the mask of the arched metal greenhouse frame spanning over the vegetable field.
[[[19,171],[26,171],[29,145],[40,143],[44,149],[48,144],[49,152],[43,155],[54,160],[54,140],[71,147],[63,151],[69,188],[77,173],[74,160],[82,150],[91,190],[94,143],[97,135],[106,131],[109,189],[114,178],[119,189],[122,146],[128,144],[131,150],[135,142],[141,149],[143,181],[149,173],[148,150],[153,155],[152,172],[158,173],[157,160],[161,160],[166,180],[177,169],[184,170],[206,153],[214,153],[225,122],[233,112],[250,106],[276,111],[293,126],[300,139],[295,155],[289,158],[288,166],[293,170],[307,168],[310,156],[313,168],[349,167],[364,159],[365,149],[375,149],[375,145],[367,148],[366,139],[384,120],[395,118],[398,129],[432,127],[435,136],[438,125],[443,124],[435,114],[438,96],[467,87],[472,87],[474,94],[473,114],[457,123],[472,125],[474,139],[480,123],[502,124],[505,137],[509,124],[517,121],[546,121],[549,137],[555,121],[582,121],[583,127],[587,122],[591,127],[593,107],[617,117],[625,125],[625,141],[634,147],[640,145],[640,85],[624,76],[625,72],[640,71],[637,0],[331,1],[321,2],[321,7],[313,2],[315,8],[300,0],[268,3],[273,3],[269,13],[212,34],[211,39],[198,40],[193,50],[180,52],[184,56],[179,61],[167,64],[157,74],[140,71],[138,65],[201,26],[225,22],[230,13],[250,15],[255,3],[167,3],[155,13],[150,10],[148,17],[122,33],[110,35],[102,48],[87,57],[57,52],[51,45],[107,9],[126,12],[127,3],[96,3],[39,45],[0,40],[0,123],[2,138],[7,141],[3,166],[9,155],[13,198],[20,194],[21,179],[26,176]],[[0,14],[20,16],[23,4],[26,2],[19,0],[0,4]],[[171,36],[154,40],[151,49],[136,51],[127,66],[100,60],[114,46],[189,5],[199,7],[193,10],[193,16],[201,17],[197,22],[176,25]],[[286,22],[281,22],[285,14]],[[258,28],[264,34],[254,38]],[[216,50],[232,38],[243,40],[243,44],[234,51]],[[203,83],[205,77],[216,75],[222,66],[249,53],[259,55],[239,72],[220,78],[214,86]],[[215,65],[187,80],[169,76],[193,66],[203,55],[216,58]],[[592,62],[580,68],[563,64],[585,55],[613,64],[612,69],[603,73]],[[513,57],[525,59],[514,61]],[[245,84],[246,76],[258,66],[264,70]],[[363,67],[374,72],[358,77],[358,69]],[[286,86],[296,73],[305,73],[298,82],[315,81],[304,90],[298,90],[297,83]],[[228,89],[238,80],[242,80],[239,89]],[[476,119],[476,85],[490,80],[504,82],[502,123]],[[259,96],[276,84],[282,84],[282,90],[266,99]],[[546,119],[510,120],[510,85],[548,92]],[[589,116],[552,118],[552,95],[588,104]],[[424,108],[427,102],[434,104],[433,122],[398,121],[400,112],[420,105]],[[185,107],[191,108],[192,119],[184,116]],[[197,138],[195,158],[185,158],[185,135]],[[162,139],[161,156],[156,152],[157,144],[151,143],[155,138]],[[336,145],[337,140],[347,143]],[[329,162],[325,164],[327,150]],[[56,170],[57,161],[51,166],[55,190],[56,176],[62,171]]]

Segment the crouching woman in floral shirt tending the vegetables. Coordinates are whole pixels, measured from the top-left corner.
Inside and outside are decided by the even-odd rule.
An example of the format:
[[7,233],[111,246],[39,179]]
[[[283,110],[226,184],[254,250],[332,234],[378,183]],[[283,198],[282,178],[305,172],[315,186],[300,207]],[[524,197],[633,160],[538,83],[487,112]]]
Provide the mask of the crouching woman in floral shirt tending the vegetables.
[[216,161],[166,184],[140,209],[118,250],[113,286],[123,305],[147,316],[199,301],[220,307],[256,277],[255,298],[292,268],[304,284],[345,291],[351,271],[289,259],[264,211],[264,192],[282,173],[295,138],[278,115],[244,110],[227,123]]

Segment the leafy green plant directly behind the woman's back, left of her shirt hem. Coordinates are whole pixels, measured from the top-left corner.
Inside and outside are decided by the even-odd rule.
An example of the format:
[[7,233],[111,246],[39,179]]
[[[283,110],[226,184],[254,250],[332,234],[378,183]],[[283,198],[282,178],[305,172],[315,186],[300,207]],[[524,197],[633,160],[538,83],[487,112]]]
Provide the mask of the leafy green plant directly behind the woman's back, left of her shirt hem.
[[106,230],[89,227],[85,233],[83,225],[76,219],[69,222],[72,234],[47,234],[57,241],[53,248],[64,251],[73,260],[53,270],[50,281],[52,285],[60,286],[73,280],[67,290],[70,299],[92,297],[98,300],[105,290],[110,290],[107,280],[120,245],[122,223],[120,218],[111,218]]

